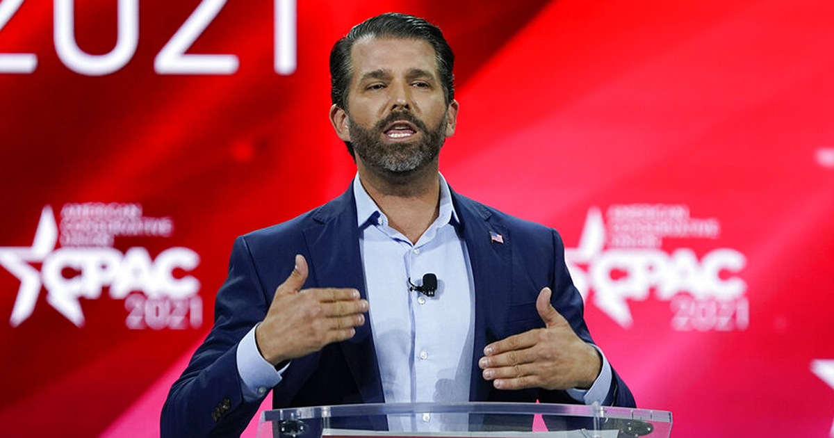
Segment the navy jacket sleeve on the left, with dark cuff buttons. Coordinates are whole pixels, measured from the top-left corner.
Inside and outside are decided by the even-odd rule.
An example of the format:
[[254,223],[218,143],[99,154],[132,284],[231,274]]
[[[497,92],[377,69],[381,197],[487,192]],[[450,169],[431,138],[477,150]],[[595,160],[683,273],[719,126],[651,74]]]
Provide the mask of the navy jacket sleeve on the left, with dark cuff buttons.
[[235,239],[229,276],[217,293],[214,327],[171,386],[160,436],[238,436],[259,408],[244,400],[236,350],[269,305],[243,236]]

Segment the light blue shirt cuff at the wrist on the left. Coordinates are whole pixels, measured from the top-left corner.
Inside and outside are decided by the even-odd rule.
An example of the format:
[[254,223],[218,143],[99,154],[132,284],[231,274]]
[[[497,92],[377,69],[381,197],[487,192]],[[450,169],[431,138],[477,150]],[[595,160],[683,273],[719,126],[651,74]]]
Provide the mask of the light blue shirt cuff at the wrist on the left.
[[253,402],[262,400],[266,393],[281,381],[281,375],[287,366],[281,370],[264,359],[255,343],[255,325],[238,343],[236,352],[238,360],[238,374],[240,375],[241,390],[244,393],[244,400]]

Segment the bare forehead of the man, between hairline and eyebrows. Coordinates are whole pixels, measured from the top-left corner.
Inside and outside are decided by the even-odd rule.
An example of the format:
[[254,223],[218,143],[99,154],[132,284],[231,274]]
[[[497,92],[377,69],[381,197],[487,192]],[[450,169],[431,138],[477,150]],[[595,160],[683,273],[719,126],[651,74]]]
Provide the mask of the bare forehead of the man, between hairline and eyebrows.
[[402,73],[415,68],[437,75],[435,48],[422,39],[361,38],[350,49],[353,77],[387,70]]

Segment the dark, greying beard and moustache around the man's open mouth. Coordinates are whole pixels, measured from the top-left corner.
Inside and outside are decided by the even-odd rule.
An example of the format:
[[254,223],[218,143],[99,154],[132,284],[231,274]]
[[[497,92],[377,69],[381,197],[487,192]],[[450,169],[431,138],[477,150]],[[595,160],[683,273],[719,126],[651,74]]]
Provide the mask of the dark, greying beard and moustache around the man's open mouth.
[[[384,128],[397,120],[414,124],[417,132],[423,135],[413,141],[384,144],[381,139]],[[389,113],[388,117],[379,120],[373,128],[364,128],[354,123],[353,118],[348,118],[350,143],[354,147],[354,153],[364,164],[389,174],[408,174],[424,168],[426,164],[435,160],[445,142],[447,124],[445,113],[434,129],[427,128],[422,120],[408,111]]]

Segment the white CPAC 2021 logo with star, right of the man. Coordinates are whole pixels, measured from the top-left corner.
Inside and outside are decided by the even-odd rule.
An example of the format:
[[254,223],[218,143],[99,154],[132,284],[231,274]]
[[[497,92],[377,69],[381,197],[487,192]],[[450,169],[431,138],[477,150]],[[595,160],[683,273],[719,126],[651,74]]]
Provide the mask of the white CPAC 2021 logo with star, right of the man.
[[565,259],[577,289],[624,328],[634,323],[629,300],[670,301],[675,330],[745,330],[749,324],[746,283],[738,274],[746,257],[718,248],[699,260],[692,249],[666,252],[662,239],[716,239],[716,219],[692,219],[685,205],[612,205],[607,226],[591,208],[576,248]]

